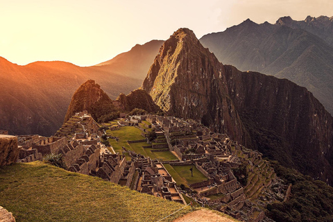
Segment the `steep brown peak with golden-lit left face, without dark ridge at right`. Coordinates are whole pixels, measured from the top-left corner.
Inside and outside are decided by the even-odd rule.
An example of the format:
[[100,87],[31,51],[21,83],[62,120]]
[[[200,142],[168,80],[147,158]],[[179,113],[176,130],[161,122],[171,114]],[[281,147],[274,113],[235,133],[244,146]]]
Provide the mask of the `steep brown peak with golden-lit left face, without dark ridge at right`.
[[246,144],[246,132],[227,95],[225,69],[192,31],[180,28],[164,42],[142,83],[164,112],[197,119]]

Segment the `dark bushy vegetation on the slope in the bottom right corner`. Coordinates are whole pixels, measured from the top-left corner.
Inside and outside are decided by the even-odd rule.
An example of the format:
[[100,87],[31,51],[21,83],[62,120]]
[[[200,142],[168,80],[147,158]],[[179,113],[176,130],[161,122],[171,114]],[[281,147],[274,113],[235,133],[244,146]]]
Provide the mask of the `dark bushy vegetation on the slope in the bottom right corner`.
[[274,221],[333,221],[333,187],[304,176],[272,161],[272,167],[286,185],[291,184],[291,197],[267,206],[266,214]]

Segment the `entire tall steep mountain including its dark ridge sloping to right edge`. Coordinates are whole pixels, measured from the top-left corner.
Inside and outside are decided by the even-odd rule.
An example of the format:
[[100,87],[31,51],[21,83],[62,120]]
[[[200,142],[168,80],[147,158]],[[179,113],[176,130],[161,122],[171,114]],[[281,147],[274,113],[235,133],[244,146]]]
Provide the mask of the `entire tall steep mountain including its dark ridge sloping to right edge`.
[[305,87],[223,65],[180,28],[164,42],[142,89],[167,114],[201,121],[332,184],[333,119]]

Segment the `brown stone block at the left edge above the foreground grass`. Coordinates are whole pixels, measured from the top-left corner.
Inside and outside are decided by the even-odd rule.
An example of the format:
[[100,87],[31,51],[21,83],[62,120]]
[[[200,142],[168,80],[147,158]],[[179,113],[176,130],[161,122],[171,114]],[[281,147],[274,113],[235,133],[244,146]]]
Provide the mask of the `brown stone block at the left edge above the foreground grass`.
[[6,166],[16,162],[17,157],[19,157],[17,137],[0,135],[0,166]]

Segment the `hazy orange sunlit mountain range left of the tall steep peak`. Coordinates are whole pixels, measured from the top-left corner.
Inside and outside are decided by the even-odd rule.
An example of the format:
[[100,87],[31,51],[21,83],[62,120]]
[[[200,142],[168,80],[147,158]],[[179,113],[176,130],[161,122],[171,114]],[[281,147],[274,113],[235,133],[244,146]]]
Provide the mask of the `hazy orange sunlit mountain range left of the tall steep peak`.
[[[157,54],[154,47],[160,47],[155,44],[162,45],[159,41],[137,45],[116,56],[110,65],[92,67],[60,61],[21,66],[0,57],[0,129],[12,135],[53,135],[64,121],[71,96],[89,79],[100,83],[111,99],[128,94],[142,84],[142,74],[149,69],[144,61]],[[128,71],[133,69],[139,71]]]

